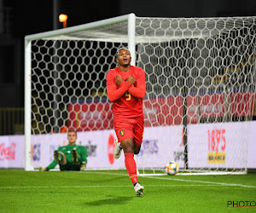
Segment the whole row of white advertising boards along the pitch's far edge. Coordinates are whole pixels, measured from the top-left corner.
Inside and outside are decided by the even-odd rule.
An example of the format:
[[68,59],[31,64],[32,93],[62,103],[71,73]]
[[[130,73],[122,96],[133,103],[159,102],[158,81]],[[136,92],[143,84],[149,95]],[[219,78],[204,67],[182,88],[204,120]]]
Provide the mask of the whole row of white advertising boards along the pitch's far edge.
[[[256,122],[190,124],[188,126],[189,168],[256,168]],[[125,158],[113,158],[114,130],[78,132],[77,144],[87,148],[89,169],[125,169]],[[247,146],[246,142],[249,140]],[[67,134],[32,136],[32,165],[48,166],[54,151],[67,145]],[[183,126],[145,128],[138,168],[164,168],[168,161],[181,168]],[[25,167],[24,135],[0,136],[0,168]],[[58,168],[58,166],[56,166]]]

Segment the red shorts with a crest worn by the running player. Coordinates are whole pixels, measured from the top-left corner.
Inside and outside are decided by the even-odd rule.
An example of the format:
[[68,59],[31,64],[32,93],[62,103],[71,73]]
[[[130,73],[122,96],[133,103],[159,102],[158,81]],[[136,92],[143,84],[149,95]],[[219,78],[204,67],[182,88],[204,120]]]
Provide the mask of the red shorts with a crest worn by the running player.
[[143,142],[144,117],[114,118],[113,126],[119,141],[132,138],[138,145]]

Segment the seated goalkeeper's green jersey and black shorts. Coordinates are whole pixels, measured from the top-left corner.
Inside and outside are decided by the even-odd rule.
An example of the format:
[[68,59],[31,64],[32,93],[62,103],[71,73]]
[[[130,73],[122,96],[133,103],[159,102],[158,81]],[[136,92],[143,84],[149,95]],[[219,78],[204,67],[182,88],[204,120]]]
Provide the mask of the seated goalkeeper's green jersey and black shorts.
[[[72,151],[74,148],[76,148],[76,151],[78,153],[78,160],[80,164],[73,164]],[[79,170],[81,167],[81,164],[84,164],[84,162],[85,164],[87,164],[87,150],[84,146],[80,146],[76,144],[67,145],[67,146],[59,147],[58,151],[64,153],[67,158],[67,164],[65,165],[60,164],[61,170]],[[51,170],[51,169],[54,169],[56,165],[57,165],[57,162],[54,159],[53,162],[49,164],[49,166],[47,166],[47,168],[48,170]]]

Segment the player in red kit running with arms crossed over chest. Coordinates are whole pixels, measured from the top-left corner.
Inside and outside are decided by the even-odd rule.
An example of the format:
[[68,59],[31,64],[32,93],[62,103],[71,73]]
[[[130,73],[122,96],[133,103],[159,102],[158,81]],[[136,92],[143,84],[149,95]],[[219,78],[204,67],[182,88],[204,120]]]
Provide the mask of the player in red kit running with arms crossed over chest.
[[131,66],[129,49],[117,51],[119,66],[108,71],[107,93],[113,102],[113,125],[118,140],[114,158],[125,153],[125,167],[134,185],[137,196],[143,195],[144,187],[137,181],[137,165],[134,154],[140,152],[143,141],[143,97],[146,93],[145,72],[142,68]]

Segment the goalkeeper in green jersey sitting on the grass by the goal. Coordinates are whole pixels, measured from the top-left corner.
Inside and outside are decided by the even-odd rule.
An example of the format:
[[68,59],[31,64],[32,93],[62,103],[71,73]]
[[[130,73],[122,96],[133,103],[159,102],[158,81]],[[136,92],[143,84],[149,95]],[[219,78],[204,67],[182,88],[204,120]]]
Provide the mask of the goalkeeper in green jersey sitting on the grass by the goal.
[[76,145],[77,132],[75,130],[67,131],[68,145],[59,147],[55,150],[55,159],[49,166],[40,166],[40,171],[48,171],[54,169],[57,164],[60,165],[60,170],[84,170],[87,164],[87,150],[84,146]]

